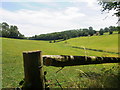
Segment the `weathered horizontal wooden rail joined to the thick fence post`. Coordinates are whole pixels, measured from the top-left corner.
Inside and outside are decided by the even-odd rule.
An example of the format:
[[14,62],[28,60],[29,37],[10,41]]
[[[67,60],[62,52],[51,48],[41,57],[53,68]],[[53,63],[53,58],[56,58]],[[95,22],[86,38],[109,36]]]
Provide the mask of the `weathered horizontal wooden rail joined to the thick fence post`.
[[72,55],[43,55],[46,66],[64,67],[102,63],[119,63],[120,57],[72,56]]

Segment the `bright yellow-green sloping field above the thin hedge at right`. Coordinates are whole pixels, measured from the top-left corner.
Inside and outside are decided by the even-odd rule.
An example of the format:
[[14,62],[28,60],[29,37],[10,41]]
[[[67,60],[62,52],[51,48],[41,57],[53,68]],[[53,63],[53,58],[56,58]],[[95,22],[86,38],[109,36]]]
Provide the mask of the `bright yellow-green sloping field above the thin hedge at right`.
[[78,37],[67,40],[67,43],[70,46],[118,52],[118,34]]

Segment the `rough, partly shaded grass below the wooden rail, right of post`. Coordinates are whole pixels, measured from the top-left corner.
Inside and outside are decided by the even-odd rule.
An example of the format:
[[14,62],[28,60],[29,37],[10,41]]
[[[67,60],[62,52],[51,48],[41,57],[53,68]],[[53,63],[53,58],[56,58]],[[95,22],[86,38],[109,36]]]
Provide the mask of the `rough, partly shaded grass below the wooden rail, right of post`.
[[[56,85],[57,82],[55,80],[57,79],[63,88],[67,88],[67,87],[98,88],[93,86],[96,86],[97,84],[100,84],[100,83],[103,83],[102,85],[99,85],[100,88],[102,87],[110,88],[110,87],[118,87],[117,86],[118,80],[116,80],[116,82],[109,83],[109,79],[108,80],[104,79],[108,77],[108,73],[104,74],[103,76],[102,69],[105,68],[107,71],[111,69],[113,66],[117,68],[118,65],[117,64],[100,64],[100,65],[72,66],[72,67],[65,67],[63,68],[63,70],[59,71],[58,73],[56,73],[56,71],[59,70],[60,68],[56,68],[52,66],[44,67],[44,70],[48,72],[46,77],[47,77],[47,80],[49,80],[50,87],[60,88],[60,86]],[[112,75],[116,75],[116,76],[118,75],[118,69],[112,69],[112,72],[114,73],[114,74],[112,73]],[[92,74],[92,79],[91,79],[90,77],[88,77],[88,75],[86,76],[84,75],[87,73],[88,74],[95,73],[95,74]],[[98,77],[94,78],[96,74],[101,75],[100,79],[98,79]],[[109,78],[114,80],[115,77],[109,77]],[[101,82],[98,82],[99,80],[101,80]],[[102,82],[102,80],[104,80],[104,82]],[[96,83],[92,83],[93,81],[95,81]],[[108,83],[109,85],[107,85]],[[115,86],[112,85],[113,83]]]

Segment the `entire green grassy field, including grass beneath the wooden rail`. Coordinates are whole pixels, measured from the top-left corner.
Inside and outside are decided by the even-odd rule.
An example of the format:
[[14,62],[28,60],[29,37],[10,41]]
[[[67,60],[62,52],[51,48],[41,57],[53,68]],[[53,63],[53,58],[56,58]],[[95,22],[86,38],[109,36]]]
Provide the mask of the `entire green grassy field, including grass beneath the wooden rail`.
[[[43,52],[43,55],[118,56],[118,54],[96,52],[91,50],[85,51],[82,49],[71,47],[71,46],[80,47],[83,46],[86,48],[95,48],[102,49],[105,51],[118,52],[118,34],[73,38],[59,43],[49,43],[48,41],[35,41],[35,40],[32,41],[18,40],[8,38],[0,38],[0,40],[2,40],[2,86],[4,88],[18,87],[18,83],[24,78],[22,57],[23,51],[41,50]],[[52,88],[60,87],[58,83],[56,83],[56,79],[58,79],[58,81],[61,83],[63,87],[86,88],[89,86],[96,86],[97,85],[96,82],[98,81],[97,79],[95,80],[90,79],[89,74],[85,75],[84,73],[91,71],[103,75],[102,71],[103,68],[105,68],[104,71],[106,71],[111,69],[113,66],[115,67],[115,69],[112,69],[112,72],[114,73],[115,76],[118,74],[117,71],[118,64],[71,66],[65,67],[59,73],[56,73],[56,71],[59,70],[60,68],[52,66],[50,67],[44,66],[44,70],[48,72],[46,76],[48,80],[47,83],[49,83],[50,87]],[[91,80],[93,80],[93,83],[90,83]],[[100,87],[111,86],[101,82],[102,81],[100,81],[99,83]]]

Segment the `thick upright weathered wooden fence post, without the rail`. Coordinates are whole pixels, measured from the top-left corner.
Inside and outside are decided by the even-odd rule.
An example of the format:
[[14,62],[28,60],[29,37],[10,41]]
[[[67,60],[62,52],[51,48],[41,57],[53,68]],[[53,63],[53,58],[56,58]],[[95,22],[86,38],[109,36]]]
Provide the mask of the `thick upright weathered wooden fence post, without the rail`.
[[24,74],[25,84],[24,89],[27,88],[39,88],[43,90],[44,76],[43,76],[43,60],[41,51],[24,51]]

